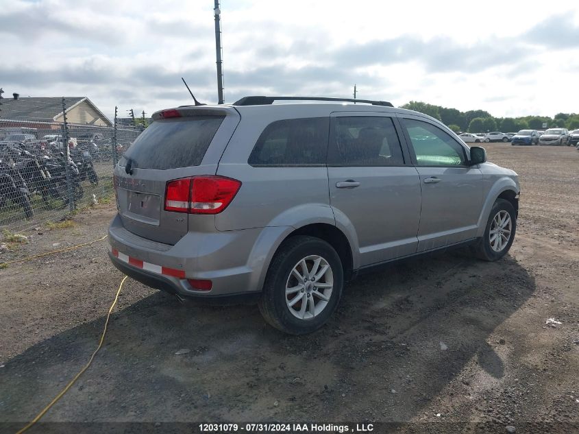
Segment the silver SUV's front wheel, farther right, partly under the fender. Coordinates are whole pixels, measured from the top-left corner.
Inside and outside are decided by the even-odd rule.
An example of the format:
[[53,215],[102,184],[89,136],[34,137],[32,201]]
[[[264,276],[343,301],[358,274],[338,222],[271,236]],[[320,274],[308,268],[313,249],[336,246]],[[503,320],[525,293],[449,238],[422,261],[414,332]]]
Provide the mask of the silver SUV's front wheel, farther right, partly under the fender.
[[515,240],[517,212],[508,200],[497,199],[481,239],[474,245],[474,254],[483,261],[502,258]]

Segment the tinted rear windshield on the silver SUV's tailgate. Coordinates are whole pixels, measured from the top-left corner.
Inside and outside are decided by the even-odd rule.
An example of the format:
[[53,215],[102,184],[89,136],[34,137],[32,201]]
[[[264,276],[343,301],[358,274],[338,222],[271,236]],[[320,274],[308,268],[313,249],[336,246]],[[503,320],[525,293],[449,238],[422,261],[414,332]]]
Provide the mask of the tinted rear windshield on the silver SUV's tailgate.
[[127,149],[119,165],[132,160],[132,167],[175,169],[198,166],[223,116],[196,116],[155,121]]

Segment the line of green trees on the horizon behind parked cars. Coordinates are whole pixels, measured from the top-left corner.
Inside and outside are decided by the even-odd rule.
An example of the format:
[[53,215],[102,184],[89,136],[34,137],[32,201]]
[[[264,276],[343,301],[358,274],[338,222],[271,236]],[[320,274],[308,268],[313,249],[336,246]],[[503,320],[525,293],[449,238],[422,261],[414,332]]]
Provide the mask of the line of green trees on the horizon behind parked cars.
[[543,123],[547,124],[547,128],[567,128],[567,130],[579,128],[579,114],[576,113],[557,113],[552,118],[548,116],[494,117],[485,110],[461,112],[456,108],[434,106],[421,101],[410,101],[402,108],[428,114],[455,132],[544,130]]

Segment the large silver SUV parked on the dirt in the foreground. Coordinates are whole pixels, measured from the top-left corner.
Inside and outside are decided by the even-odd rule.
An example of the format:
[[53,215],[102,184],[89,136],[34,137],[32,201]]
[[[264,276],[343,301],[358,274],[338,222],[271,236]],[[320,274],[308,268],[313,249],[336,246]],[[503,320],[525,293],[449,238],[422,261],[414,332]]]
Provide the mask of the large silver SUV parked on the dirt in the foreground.
[[[288,99],[302,103],[273,104]],[[464,243],[508,252],[517,173],[425,114],[309,99],[153,114],[114,169],[112,263],[180,298],[254,296],[301,334],[363,269]]]

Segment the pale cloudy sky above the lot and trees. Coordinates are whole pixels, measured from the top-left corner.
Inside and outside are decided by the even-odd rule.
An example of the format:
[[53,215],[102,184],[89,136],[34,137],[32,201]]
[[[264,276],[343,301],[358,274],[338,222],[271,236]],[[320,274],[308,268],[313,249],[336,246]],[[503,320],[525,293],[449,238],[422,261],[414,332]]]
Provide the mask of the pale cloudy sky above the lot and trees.
[[[578,1],[223,0],[221,20],[226,103],[357,84],[395,106],[579,112]],[[180,77],[217,102],[213,0],[0,0],[4,97],[151,114],[190,103]]]

